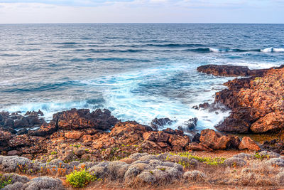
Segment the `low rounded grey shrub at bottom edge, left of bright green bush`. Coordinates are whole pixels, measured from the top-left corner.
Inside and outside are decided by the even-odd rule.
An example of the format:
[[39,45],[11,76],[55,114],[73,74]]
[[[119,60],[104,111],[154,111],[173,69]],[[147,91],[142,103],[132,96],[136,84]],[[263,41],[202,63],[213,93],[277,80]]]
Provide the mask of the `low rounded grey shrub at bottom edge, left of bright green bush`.
[[23,185],[23,189],[65,189],[60,179],[49,176],[40,176]]

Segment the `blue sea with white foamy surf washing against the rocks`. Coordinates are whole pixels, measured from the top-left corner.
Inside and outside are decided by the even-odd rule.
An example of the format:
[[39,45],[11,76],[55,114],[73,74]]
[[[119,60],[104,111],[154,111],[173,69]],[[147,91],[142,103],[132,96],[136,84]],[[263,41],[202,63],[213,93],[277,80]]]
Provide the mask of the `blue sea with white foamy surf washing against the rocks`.
[[194,110],[232,78],[206,64],[284,63],[284,25],[222,23],[0,25],[0,110],[107,108],[120,120],[155,117],[213,128],[227,112]]

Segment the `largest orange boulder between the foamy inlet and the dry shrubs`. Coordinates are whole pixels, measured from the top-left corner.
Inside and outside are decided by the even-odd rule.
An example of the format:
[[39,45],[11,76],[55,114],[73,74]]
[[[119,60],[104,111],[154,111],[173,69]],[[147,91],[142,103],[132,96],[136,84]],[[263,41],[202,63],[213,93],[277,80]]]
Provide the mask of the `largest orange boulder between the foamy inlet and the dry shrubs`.
[[230,138],[214,130],[202,130],[200,144],[210,149],[226,149]]

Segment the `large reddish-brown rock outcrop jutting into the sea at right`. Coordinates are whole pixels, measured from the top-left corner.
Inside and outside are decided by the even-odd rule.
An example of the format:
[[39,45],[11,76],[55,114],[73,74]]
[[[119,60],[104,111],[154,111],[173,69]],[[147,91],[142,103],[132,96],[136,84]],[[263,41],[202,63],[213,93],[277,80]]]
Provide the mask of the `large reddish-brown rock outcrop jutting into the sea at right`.
[[215,103],[222,103],[231,109],[231,115],[216,126],[217,130],[240,133],[284,130],[283,65],[262,70],[204,65],[197,70],[214,75],[251,76],[229,80],[224,84],[228,89],[216,93]]

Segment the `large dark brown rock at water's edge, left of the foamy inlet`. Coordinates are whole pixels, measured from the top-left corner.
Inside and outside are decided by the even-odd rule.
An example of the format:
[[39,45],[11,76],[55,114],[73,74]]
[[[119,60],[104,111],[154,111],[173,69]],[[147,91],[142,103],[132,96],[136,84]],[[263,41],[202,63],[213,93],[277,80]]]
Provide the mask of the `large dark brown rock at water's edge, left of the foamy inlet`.
[[58,127],[65,130],[85,128],[109,130],[119,120],[112,116],[109,110],[98,109],[89,112],[87,109],[72,109],[54,114],[53,122],[58,123]]

